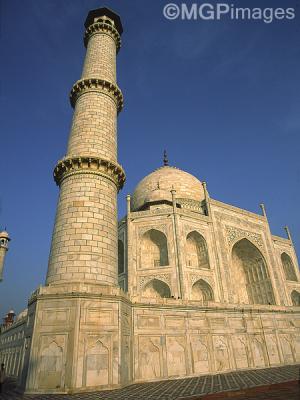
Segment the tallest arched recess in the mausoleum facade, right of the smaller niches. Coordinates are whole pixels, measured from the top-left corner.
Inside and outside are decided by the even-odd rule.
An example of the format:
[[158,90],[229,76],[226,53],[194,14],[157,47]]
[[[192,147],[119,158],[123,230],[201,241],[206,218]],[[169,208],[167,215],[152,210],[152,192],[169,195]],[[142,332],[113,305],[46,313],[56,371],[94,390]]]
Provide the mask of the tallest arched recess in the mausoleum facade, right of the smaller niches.
[[232,248],[231,275],[235,302],[275,304],[265,259],[248,239],[239,240]]

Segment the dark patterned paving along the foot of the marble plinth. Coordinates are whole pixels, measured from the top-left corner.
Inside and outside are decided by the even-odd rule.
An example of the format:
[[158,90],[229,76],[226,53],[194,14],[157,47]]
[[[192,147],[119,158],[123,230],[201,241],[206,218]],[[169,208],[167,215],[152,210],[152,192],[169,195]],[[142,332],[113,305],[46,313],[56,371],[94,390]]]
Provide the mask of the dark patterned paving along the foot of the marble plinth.
[[21,394],[15,389],[13,382],[8,381],[0,399],[221,400],[231,398],[236,400],[300,400],[299,369],[300,365],[290,365],[252,371],[236,371],[218,375],[134,384],[123,389],[74,395]]

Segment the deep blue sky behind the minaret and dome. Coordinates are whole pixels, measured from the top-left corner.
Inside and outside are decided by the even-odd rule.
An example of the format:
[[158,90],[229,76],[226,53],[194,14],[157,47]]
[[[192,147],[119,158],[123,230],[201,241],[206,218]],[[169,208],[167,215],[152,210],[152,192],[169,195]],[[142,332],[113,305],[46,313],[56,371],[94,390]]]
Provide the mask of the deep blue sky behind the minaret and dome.
[[1,0],[0,225],[12,237],[1,316],[25,308],[45,279],[58,195],[52,171],[66,151],[83,23],[103,5],[124,25],[120,215],[167,148],[170,163],[206,180],[211,197],[254,212],[264,202],[272,232],[284,236],[288,224],[300,253],[299,0],[235,2],[296,8],[295,20],[271,24],[168,21],[166,3]]

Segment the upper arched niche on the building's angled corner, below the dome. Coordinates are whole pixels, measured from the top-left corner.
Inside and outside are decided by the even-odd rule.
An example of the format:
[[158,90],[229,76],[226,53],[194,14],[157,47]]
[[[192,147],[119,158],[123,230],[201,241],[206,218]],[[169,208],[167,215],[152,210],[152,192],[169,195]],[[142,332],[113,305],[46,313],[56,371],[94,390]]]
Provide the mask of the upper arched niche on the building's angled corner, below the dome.
[[141,241],[142,267],[162,267],[169,265],[166,235],[156,229],[145,232]]

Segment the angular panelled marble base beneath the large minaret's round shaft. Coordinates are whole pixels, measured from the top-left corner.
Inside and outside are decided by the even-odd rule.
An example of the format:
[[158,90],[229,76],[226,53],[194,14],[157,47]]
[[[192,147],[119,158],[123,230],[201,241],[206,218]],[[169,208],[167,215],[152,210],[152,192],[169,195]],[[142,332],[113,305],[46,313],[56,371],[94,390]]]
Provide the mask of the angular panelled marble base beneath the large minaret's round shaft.
[[130,383],[130,304],[121,289],[109,286],[40,287],[29,300],[25,392],[74,393]]

